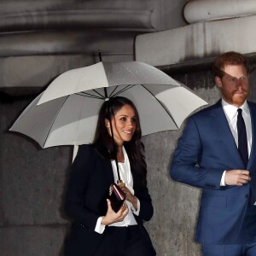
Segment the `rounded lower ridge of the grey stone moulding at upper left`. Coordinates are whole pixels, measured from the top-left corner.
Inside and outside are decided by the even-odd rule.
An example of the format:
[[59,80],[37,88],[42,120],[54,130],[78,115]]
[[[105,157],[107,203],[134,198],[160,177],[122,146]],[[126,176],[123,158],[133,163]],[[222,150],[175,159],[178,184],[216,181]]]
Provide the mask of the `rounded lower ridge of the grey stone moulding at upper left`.
[[153,30],[151,12],[134,10],[65,10],[0,15],[0,32],[55,28],[119,28]]

